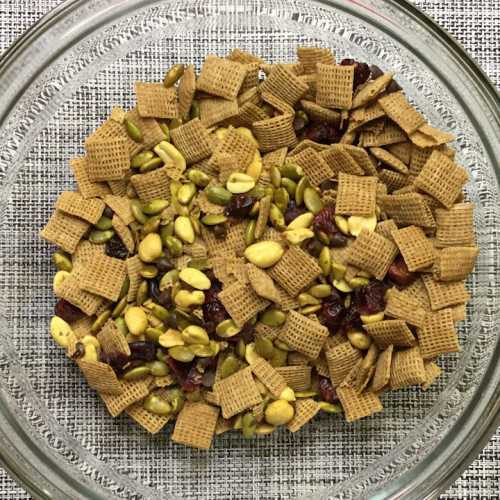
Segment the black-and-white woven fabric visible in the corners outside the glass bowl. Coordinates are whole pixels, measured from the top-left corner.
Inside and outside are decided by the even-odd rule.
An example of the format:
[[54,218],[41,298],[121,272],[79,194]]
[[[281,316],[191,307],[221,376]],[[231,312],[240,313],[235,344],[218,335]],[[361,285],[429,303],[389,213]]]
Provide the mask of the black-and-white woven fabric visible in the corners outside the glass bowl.
[[[450,32],[500,86],[500,0],[412,0]],[[0,54],[60,0],[0,0]],[[499,498],[500,429],[441,500]],[[0,499],[28,500],[0,469]]]

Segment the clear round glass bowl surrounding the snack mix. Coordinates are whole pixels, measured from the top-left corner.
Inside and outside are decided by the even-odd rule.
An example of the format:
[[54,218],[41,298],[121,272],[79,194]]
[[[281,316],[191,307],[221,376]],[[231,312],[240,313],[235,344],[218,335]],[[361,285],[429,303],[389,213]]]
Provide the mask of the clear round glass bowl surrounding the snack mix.
[[[240,47],[291,62],[327,46],[396,71],[429,121],[456,136],[469,172],[481,254],[458,328],[463,352],[443,375],[386,393],[384,411],[352,424],[320,415],[296,434],[214,439],[208,452],[113,420],[52,340],[53,248],[38,232],[64,189],[68,158],[133,82],[178,62]],[[0,65],[0,457],[35,498],[433,498],[499,424],[499,96],[464,50],[409,3],[391,0],[68,0]]]

